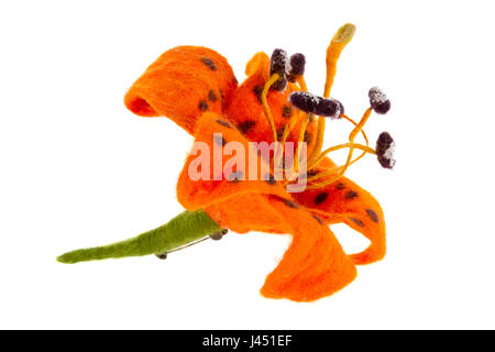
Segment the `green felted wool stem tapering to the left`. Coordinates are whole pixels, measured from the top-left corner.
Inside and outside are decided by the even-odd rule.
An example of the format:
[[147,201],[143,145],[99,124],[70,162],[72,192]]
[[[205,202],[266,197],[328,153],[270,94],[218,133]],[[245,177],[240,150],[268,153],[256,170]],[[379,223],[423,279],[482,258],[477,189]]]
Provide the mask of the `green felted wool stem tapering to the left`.
[[135,238],[92,249],[76,250],[57,257],[61,263],[74,264],[109,257],[140,256],[177,249],[220,231],[217,222],[202,210],[184,211],[154,230]]

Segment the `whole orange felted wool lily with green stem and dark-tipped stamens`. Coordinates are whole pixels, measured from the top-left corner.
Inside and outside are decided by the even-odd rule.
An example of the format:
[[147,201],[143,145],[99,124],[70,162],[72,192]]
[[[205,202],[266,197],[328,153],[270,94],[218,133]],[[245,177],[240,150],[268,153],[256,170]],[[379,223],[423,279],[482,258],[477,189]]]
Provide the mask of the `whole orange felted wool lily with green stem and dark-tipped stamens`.
[[[288,233],[292,244],[261,293],[309,301],[351,283],[356,264],[383,258],[382,208],[344,173],[369,153],[376,154],[384,167],[393,166],[389,134],[381,135],[375,151],[363,131],[373,109],[385,113],[389,101],[382,90],[372,88],[371,108],[354,122],[344,114],[343,105],[329,97],[337,61],[354,31],[345,24],[328,47],[322,97],[307,91],[302,54],[289,57],[275,50],[268,57],[257,53],[246,65],[246,79],[238,86],[227,59],[212,50],[178,46],[165,52],[134,82],[124,101],[138,116],[167,117],[194,135],[177,184],[177,199],[187,210],[134,239],[73,251],[58,261],[146,254],[165,258],[204,239],[221,239],[227,229]],[[329,123],[350,121],[353,129],[346,143],[322,151],[328,118],[334,120]],[[366,145],[354,142],[360,133]],[[263,142],[278,143],[266,151]],[[290,144],[295,146],[292,156],[285,150]],[[343,148],[349,150],[346,162],[337,166],[327,155]],[[356,150],[361,154],[353,158]],[[300,184],[301,191],[288,191]],[[363,252],[344,253],[329,228],[342,222],[371,241]]]

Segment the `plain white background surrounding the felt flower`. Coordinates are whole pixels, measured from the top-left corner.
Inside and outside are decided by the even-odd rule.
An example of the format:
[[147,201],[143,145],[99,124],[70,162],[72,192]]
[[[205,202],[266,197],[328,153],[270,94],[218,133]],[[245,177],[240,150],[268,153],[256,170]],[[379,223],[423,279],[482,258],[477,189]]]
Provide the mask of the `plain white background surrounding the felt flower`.
[[[493,13],[490,1],[2,2],[0,328],[495,328]],[[366,131],[392,133],[396,168],[367,157],[349,173],[384,208],[383,262],[296,304],[258,294],[288,235],[230,233],[164,262],[55,261],[183,210],[175,184],[193,139],[123,106],[162,52],[212,47],[240,80],[257,51],[301,52],[321,94],[345,22],[358,32],[332,95],[355,119],[372,86],[393,106]],[[332,123],[326,145],[349,129]],[[332,229],[349,251],[366,245]]]

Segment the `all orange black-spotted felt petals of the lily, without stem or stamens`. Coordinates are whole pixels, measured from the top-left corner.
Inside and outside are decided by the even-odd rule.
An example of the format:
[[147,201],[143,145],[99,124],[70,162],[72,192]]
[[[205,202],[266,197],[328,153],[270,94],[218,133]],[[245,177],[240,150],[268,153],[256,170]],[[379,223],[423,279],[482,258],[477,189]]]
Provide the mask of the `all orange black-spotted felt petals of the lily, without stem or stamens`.
[[[311,177],[327,173],[317,182],[327,184],[301,193],[287,193],[285,180],[266,179],[262,170],[270,170],[270,165],[255,150],[254,158],[245,157],[235,169],[224,173],[232,156],[223,155],[221,162],[216,162],[215,151],[224,154],[229,142],[238,142],[249,151],[250,142],[270,144],[274,138],[261,99],[271,78],[270,57],[255,54],[245,73],[246,79],[238,87],[230,65],[220,54],[205,47],[179,46],[146,69],[125,96],[125,105],[139,116],[170,118],[193,134],[195,142],[208,146],[201,151],[195,143],[180,173],[177,199],[186,209],[202,209],[220,227],[239,233],[261,231],[293,237],[284,257],[267,276],[261,289],[263,296],[296,301],[329,296],[355,278],[356,264],[384,257],[383,210],[366,190],[346,177],[332,182],[338,169],[328,157],[307,175],[309,185]],[[289,82],[284,91],[268,90],[266,100],[278,139],[294,118],[301,119],[294,123],[287,141],[297,142],[304,135],[309,155],[317,144],[317,123],[309,120],[300,133],[307,116],[288,102],[289,94],[301,87]],[[211,101],[210,91],[219,99]],[[197,164],[204,152],[210,160],[207,166]],[[213,179],[213,168],[221,170],[220,179]],[[207,175],[207,179],[193,179],[191,169]],[[251,177],[254,174],[256,179]],[[329,229],[333,223],[345,223],[362,233],[371,241],[370,246],[361,253],[345,254]]]

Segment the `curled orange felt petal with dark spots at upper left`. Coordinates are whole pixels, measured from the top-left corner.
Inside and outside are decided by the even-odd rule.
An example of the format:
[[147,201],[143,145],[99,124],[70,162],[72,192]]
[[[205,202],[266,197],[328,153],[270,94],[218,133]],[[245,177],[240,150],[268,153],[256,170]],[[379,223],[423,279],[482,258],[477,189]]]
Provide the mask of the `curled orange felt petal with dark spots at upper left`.
[[193,133],[205,111],[221,113],[238,82],[227,59],[201,46],[177,46],[158,57],[125,95],[129,110],[166,116]]

